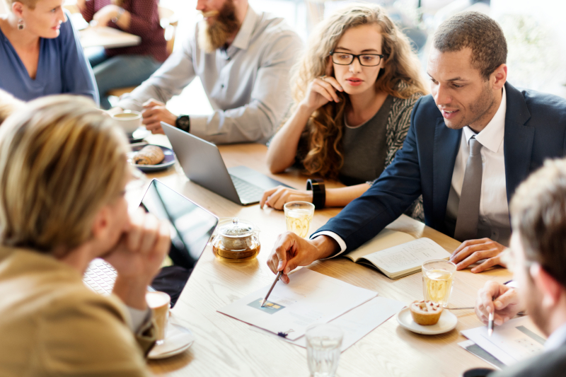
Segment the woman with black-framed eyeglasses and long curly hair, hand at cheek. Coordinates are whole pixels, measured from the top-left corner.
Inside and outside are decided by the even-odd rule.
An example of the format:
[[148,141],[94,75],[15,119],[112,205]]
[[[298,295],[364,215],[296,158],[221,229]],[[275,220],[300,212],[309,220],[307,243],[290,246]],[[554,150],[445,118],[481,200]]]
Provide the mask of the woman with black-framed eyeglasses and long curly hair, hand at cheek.
[[[261,207],[294,200],[344,207],[362,195],[393,161],[426,93],[407,37],[371,4],[352,4],[318,24],[291,86],[294,108],[267,151],[271,172],[296,165],[347,187],[325,190],[321,180],[309,180],[312,190],[276,187]],[[417,202],[410,214],[418,218]]]

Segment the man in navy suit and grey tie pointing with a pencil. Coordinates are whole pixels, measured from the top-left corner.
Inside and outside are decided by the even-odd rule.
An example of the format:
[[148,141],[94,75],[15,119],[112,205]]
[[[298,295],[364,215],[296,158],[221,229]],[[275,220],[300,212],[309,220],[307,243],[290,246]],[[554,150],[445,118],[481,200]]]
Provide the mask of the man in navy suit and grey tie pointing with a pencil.
[[451,256],[458,269],[485,259],[472,272],[502,265],[514,190],[545,158],[563,156],[566,141],[566,100],[506,83],[506,59],[507,42],[491,18],[464,12],[442,23],[427,64],[432,95],[415,104],[403,149],[310,240],[279,236],[270,269],[283,270],[287,283],[299,265],[354,250],[419,195],[428,226],[451,237],[460,229],[463,243]]

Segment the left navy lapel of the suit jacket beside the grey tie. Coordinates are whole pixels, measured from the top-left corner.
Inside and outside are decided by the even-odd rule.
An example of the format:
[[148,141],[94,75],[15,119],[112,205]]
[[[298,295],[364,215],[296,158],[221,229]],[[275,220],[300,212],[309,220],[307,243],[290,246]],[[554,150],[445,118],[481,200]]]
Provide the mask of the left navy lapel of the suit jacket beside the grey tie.
[[458,149],[460,149],[460,141],[462,137],[461,129],[449,129],[444,124],[441,117],[437,120],[437,127],[434,129],[434,146],[432,150],[433,161],[433,219],[439,221],[437,226],[444,226],[444,218],[446,217],[446,204],[448,204],[448,195],[452,182],[452,173],[454,173],[454,163]]

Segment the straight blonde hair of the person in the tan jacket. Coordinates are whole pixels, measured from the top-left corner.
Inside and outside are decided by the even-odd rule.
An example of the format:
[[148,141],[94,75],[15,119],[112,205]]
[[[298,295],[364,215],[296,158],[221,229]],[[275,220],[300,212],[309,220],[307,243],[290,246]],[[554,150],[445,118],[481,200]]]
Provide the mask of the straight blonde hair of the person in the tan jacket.
[[125,134],[92,100],[33,100],[0,127],[0,243],[49,253],[91,237],[126,182]]

